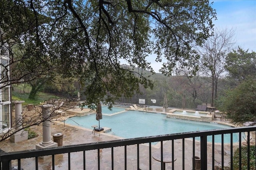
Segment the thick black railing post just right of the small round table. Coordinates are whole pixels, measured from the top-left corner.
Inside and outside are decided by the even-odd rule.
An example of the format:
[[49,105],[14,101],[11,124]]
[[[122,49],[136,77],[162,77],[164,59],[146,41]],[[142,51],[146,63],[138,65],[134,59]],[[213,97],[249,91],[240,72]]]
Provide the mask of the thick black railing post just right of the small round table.
[[201,170],[207,170],[207,135],[200,137]]

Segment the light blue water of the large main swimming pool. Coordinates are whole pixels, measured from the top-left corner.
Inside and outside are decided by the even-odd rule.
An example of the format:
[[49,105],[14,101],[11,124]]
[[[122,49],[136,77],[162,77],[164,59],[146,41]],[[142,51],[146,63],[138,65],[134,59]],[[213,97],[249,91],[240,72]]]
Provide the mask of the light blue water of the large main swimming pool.
[[[109,127],[112,130],[107,133],[123,138],[230,128],[216,123],[166,118],[165,114],[124,110],[123,108],[113,107],[112,111],[110,111],[107,107],[102,107],[103,115],[102,119],[100,119],[100,127]],[[79,126],[88,129],[92,129],[92,125],[98,125],[96,114],[72,117],[67,119],[65,123],[79,124]],[[215,143],[220,143],[221,135],[216,135],[214,140]],[[233,142],[238,142],[238,140],[238,134],[233,134]],[[212,137],[208,137],[208,142],[212,142]],[[224,135],[224,143],[230,143],[230,135]]]

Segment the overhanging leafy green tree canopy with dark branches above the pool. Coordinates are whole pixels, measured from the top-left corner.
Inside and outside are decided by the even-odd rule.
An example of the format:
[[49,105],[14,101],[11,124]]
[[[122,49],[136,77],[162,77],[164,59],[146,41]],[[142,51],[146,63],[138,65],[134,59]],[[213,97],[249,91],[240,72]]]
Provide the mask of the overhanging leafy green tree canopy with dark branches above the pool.
[[177,66],[196,71],[194,47],[211,35],[216,19],[208,0],[6,0],[0,12],[13,73],[28,81],[53,72],[77,78],[88,104],[131,96],[140,84],[152,87],[143,72],[154,73],[149,56],[165,59],[166,75]]

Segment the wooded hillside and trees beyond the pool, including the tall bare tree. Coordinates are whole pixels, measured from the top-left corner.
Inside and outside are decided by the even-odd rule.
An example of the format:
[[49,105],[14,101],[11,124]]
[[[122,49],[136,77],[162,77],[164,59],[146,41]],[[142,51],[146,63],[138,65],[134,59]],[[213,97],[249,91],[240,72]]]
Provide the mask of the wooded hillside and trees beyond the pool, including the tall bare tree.
[[[145,77],[149,77],[154,84],[153,88],[144,88],[140,85],[140,92],[134,92],[133,96],[123,94],[115,102],[138,104],[139,99],[145,99],[145,105],[163,106],[166,94],[169,107],[184,107],[182,101],[185,97],[186,108],[194,109],[198,104],[211,103],[217,109],[228,113],[229,118],[234,122],[254,121],[256,90],[253,86],[256,79],[256,53],[240,47],[232,49],[233,33],[233,30],[220,30],[214,35],[218,38],[210,39],[210,43],[209,40],[206,41],[203,52],[198,51],[202,55],[199,60],[199,70],[195,75],[191,75],[186,68],[178,70],[175,76],[152,74],[148,70],[136,68],[139,72],[144,72]],[[222,41],[225,43],[220,43]],[[122,67],[132,69],[128,65]],[[55,76],[54,81],[42,87],[41,91],[70,100],[76,99],[79,92],[80,99],[86,100],[86,96],[82,95],[85,89],[75,78],[64,79]],[[246,88],[239,90],[242,87]],[[240,97],[234,98],[232,95]],[[152,99],[157,102],[153,103]],[[238,109],[238,104],[241,104],[240,109],[235,111]]]

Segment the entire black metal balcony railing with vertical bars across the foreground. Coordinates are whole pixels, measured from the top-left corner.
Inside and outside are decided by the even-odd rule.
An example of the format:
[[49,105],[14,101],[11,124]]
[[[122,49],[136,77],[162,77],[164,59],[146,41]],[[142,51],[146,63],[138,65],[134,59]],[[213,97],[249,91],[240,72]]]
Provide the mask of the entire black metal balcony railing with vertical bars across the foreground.
[[[239,149],[239,169],[242,169],[242,159],[244,159],[241,154],[241,148],[242,148],[242,141],[244,140],[242,138],[242,133],[246,133],[246,141],[249,143],[254,143],[255,145],[256,141],[250,141],[252,138],[252,135],[255,135],[256,127],[236,127],[231,129],[222,129],[222,130],[209,130],[209,131],[197,131],[197,132],[191,132],[191,133],[178,133],[178,134],[170,134],[170,135],[160,135],[160,136],[153,136],[153,137],[141,137],[141,138],[134,138],[134,139],[122,139],[122,140],[115,140],[115,141],[105,141],[105,142],[98,142],[98,143],[86,143],[86,144],[80,144],[80,145],[70,145],[70,146],[63,146],[63,147],[56,147],[56,148],[49,148],[49,149],[40,149],[40,150],[25,150],[20,152],[3,152],[0,150],[0,170],[10,170],[12,168],[12,164],[15,164],[18,166],[18,169],[20,170],[22,168],[22,162],[26,160],[26,158],[30,158],[32,160],[32,164],[35,165],[34,169],[38,170],[40,169],[40,157],[41,156],[51,156],[51,164],[50,168],[52,170],[58,169],[58,165],[55,164],[55,157],[57,154],[68,154],[67,159],[63,160],[66,162],[67,167],[65,169],[76,169],[74,168],[73,162],[74,158],[71,156],[74,153],[82,152],[82,156],[77,156],[80,159],[81,166],[80,169],[92,169],[92,166],[88,165],[86,163],[87,159],[90,159],[92,157],[91,152],[95,152],[96,159],[94,162],[94,168],[100,170],[105,169],[106,167],[110,167],[112,170],[114,169],[129,169],[128,166],[130,166],[131,156],[129,146],[133,146],[134,152],[136,152],[133,156],[133,160],[136,160],[136,165],[133,165],[136,169],[155,169],[153,168],[152,164],[155,160],[152,158],[153,155],[153,146],[154,143],[160,142],[158,145],[160,145],[158,150],[158,153],[160,155],[159,157],[159,168],[157,169],[164,169],[165,168],[165,158],[164,153],[167,151],[171,154],[171,160],[168,164],[169,168],[172,167],[172,170],[186,170],[186,169],[201,169],[201,170],[207,170],[207,169],[214,169],[216,165],[218,165],[221,169],[224,169],[224,166],[226,164],[229,164],[230,169],[233,169],[233,154],[234,150]],[[224,143],[224,134],[230,135],[230,143]],[[233,143],[233,134],[238,134],[239,142]],[[216,135],[221,135],[221,143],[214,144],[207,142],[207,137],[210,136],[212,138],[212,141],[214,141],[214,137]],[[199,140],[196,140],[199,137]],[[179,143],[179,146],[177,147],[177,141]],[[192,145],[185,147],[185,141],[190,141]],[[142,148],[141,146],[144,146],[143,149],[146,148],[147,155],[142,155]],[[116,152],[116,148],[120,148],[121,151],[118,150]],[[129,148],[129,149],[128,149]],[[167,149],[168,148],[168,149]],[[169,149],[170,148],[170,149]],[[221,158],[218,158],[220,161],[216,163],[216,148],[220,149],[221,152]],[[107,158],[107,160],[104,160],[101,158],[100,154],[102,150],[104,149],[111,149],[110,155],[104,157]],[[156,149],[155,149],[156,150]],[[154,150],[154,152],[155,152]],[[188,150],[191,150],[192,154],[188,153]],[[114,152],[115,151],[115,152]],[[247,146],[247,169],[249,169],[250,166],[255,166],[255,162],[252,165],[252,162],[250,162],[250,145]],[[90,152],[90,153],[89,153]],[[129,153],[129,154],[128,154]],[[196,155],[200,153],[199,155]],[[225,153],[225,154],[224,154]],[[255,153],[255,152],[254,152]],[[198,167],[198,162],[196,162],[195,156],[200,156],[200,162]],[[189,157],[189,158],[188,158]],[[64,158],[64,157],[63,157]],[[123,164],[116,163],[116,159],[123,159]],[[192,162],[192,167],[186,166],[186,161],[190,160]],[[145,163],[146,162],[146,163]],[[161,162],[161,163],[160,163]],[[157,163],[154,163],[154,166],[156,166]],[[103,166],[104,164],[104,166]],[[107,165],[106,165],[107,164]],[[116,168],[118,167],[118,168]],[[25,169],[25,167],[24,167]]]

